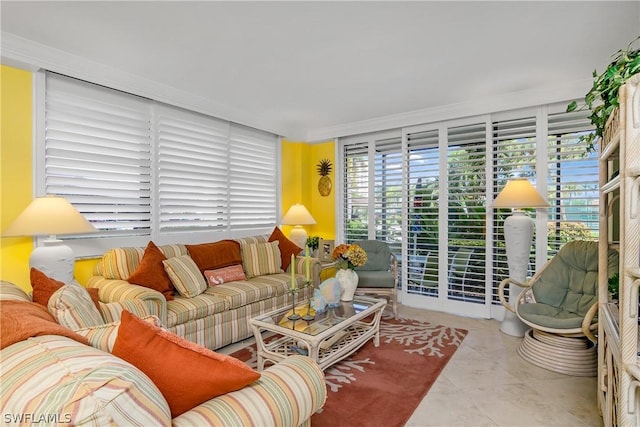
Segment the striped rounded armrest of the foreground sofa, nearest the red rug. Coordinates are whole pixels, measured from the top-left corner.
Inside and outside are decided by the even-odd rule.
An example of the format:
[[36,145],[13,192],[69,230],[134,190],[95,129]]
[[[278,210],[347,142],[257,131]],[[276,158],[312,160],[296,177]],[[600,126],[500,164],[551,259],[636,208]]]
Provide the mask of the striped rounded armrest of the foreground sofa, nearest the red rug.
[[173,425],[299,426],[322,408],[326,398],[324,374],[316,362],[291,356],[264,370],[253,384],[174,418]]

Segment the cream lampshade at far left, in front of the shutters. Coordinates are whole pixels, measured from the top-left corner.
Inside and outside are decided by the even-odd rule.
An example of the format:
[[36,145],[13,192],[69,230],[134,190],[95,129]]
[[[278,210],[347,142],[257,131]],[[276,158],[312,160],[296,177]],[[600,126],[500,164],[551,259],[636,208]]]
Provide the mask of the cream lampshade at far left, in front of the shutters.
[[7,227],[3,237],[79,234],[96,231],[64,197],[35,198]]

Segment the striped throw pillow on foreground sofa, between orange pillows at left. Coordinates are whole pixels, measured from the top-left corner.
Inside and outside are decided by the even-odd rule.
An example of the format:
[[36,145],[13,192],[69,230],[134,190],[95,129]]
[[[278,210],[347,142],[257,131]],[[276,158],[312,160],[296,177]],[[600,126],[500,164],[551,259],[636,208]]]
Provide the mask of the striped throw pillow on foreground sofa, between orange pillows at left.
[[69,329],[76,330],[104,323],[100,311],[80,285],[65,285],[49,298],[49,313],[56,321]]

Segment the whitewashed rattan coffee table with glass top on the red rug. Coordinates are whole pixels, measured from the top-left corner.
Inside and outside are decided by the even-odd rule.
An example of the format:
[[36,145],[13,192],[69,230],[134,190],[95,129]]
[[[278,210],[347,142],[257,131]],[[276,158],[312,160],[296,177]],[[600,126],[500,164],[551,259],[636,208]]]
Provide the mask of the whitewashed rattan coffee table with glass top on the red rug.
[[[326,369],[362,347],[370,338],[380,344],[380,318],[387,302],[356,296],[335,308],[317,313],[310,321],[287,318],[291,308],[272,311],[250,320],[258,350],[258,370],[265,361],[277,363],[293,354],[303,354]],[[306,313],[306,303],[296,309]],[[265,340],[263,332],[269,338]],[[274,336],[275,335],[275,336]]]

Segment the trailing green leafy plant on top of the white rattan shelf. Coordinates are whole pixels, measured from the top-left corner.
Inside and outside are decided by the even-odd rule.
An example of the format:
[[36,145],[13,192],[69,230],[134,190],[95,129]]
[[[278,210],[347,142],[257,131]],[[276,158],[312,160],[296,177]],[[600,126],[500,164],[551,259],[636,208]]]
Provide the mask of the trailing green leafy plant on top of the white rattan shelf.
[[[633,40],[627,49],[620,49],[613,55],[613,61],[598,74],[593,71],[593,86],[584,97],[585,107],[591,110],[591,123],[595,125],[595,133],[580,137],[580,141],[587,144],[587,152],[595,150],[595,144],[604,134],[607,119],[618,107],[618,90],[631,76],[640,72],[640,49],[633,49],[632,45],[640,37]],[[596,105],[594,107],[594,105]],[[576,101],[567,106],[567,112],[578,108]],[[584,108],[584,107],[583,107]]]

